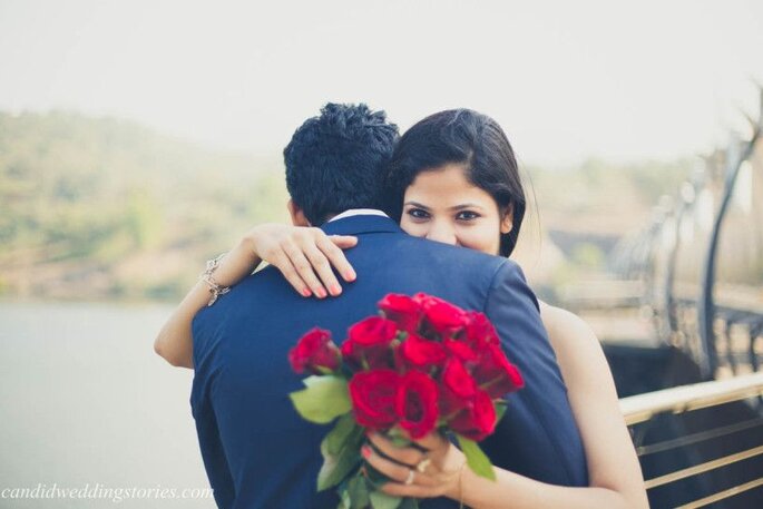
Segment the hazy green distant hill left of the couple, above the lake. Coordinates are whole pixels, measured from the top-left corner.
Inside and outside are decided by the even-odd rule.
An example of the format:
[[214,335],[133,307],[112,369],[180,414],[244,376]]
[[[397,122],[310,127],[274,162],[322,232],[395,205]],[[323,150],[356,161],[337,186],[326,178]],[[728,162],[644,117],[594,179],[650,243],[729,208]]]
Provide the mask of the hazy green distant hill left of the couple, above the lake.
[[214,151],[131,121],[0,111],[0,292],[176,296],[204,257],[284,219],[278,154]]

